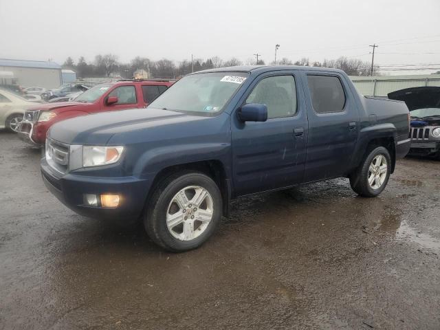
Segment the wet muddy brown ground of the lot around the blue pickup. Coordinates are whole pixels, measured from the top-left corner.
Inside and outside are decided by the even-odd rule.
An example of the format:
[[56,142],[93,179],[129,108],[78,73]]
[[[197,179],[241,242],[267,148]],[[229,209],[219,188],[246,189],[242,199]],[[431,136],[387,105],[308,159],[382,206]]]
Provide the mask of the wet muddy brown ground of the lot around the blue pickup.
[[0,329],[440,329],[440,162],[240,199],[199,250],[80,217],[0,132]]

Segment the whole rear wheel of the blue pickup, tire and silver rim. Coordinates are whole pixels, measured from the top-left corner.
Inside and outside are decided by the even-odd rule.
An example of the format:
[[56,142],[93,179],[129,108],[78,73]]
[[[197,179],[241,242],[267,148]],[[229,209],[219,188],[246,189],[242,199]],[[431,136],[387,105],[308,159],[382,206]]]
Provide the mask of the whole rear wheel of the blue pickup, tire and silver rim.
[[391,156],[386,148],[378,146],[350,175],[351,188],[363,197],[376,197],[386,187],[391,174]]

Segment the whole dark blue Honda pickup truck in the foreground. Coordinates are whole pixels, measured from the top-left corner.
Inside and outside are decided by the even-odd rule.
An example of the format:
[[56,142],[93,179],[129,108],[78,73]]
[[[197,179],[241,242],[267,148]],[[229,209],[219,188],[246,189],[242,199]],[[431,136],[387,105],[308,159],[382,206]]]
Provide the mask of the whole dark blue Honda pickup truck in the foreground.
[[340,70],[228,67],[181,78],[146,109],[55,124],[41,172],[72,210],[143,219],[177,252],[206,241],[239,196],[336,177],[379,195],[408,133],[404,102],[360,96]]

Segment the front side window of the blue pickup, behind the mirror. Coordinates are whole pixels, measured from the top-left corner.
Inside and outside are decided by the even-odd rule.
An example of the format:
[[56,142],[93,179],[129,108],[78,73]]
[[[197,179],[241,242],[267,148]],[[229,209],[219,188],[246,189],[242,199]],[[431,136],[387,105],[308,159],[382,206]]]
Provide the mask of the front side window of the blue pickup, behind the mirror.
[[293,76],[274,76],[261,80],[246,103],[267,105],[267,118],[289,117],[296,113],[296,86]]

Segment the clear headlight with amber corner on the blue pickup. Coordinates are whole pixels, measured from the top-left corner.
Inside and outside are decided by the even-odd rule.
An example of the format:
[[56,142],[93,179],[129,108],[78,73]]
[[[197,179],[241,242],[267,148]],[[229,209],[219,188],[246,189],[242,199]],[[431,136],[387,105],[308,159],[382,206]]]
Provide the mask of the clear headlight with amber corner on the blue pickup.
[[109,165],[118,162],[123,146],[83,146],[83,167]]

